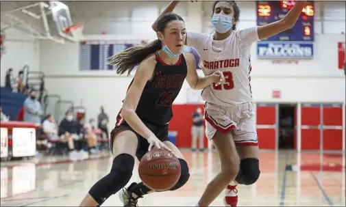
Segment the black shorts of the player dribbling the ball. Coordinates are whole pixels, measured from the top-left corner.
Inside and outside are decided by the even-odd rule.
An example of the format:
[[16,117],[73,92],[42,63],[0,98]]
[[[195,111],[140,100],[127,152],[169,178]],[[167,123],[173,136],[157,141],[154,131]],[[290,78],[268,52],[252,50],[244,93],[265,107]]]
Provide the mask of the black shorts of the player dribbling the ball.
[[[169,139],[168,139],[169,125],[168,124],[166,124],[164,126],[156,126],[153,124],[148,124],[146,122],[143,122],[143,123],[145,124],[145,126],[147,126],[147,128],[149,128],[151,130],[151,132],[154,135],[156,135],[156,137],[158,137],[158,139],[160,139],[160,141],[169,141]],[[120,126],[116,126],[110,132],[110,151],[113,153],[114,135],[116,135],[117,133],[120,133],[123,130],[131,130],[132,132],[134,132],[137,135],[138,146],[137,146],[136,156],[137,156],[138,160],[140,160],[145,155],[145,153],[148,152],[149,143],[148,143],[147,139],[145,139],[144,137],[142,137],[138,133],[136,133],[136,131],[133,130],[131,128],[131,126],[129,126],[129,124],[127,124],[126,122],[123,122]]]

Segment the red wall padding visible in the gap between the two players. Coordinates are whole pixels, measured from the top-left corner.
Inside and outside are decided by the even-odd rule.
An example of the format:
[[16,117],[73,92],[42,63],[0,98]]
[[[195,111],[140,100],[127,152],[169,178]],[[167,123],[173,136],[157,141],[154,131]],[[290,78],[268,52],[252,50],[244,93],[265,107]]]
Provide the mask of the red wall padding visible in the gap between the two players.
[[[196,107],[199,106],[204,113],[203,104],[188,104],[188,105],[173,105],[173,118],[169,122],[169,130],[177,131],[177,143],[178,148],[191,148],[191,126],[193,126],[193,112]],[[205,126],[205,122],[203,121]],[[197,141],[198,144],[198,141]],[[208,147],[208,139],[204,135],[204,147]]]

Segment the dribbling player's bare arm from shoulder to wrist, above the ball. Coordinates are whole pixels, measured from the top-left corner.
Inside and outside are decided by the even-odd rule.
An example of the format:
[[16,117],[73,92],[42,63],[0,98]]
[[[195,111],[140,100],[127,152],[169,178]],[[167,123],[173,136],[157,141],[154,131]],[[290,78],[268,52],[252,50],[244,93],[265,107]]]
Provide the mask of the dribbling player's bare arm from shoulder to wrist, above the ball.
[[156,65],[155,55],[143,60],[139,66],[136,74],[134,76],[134,81],[129,87],[125,100],[123,102],[123,107],[121,108],[121,115],[124,120],[133,128],[138,134],[140,134],[145,139],[149,137],[155,137],[151,130],[143,124],[138,115],[136,114],[136,108],[142,95],[143,89],[147,81],[149,81],[153,75],[153,70]]

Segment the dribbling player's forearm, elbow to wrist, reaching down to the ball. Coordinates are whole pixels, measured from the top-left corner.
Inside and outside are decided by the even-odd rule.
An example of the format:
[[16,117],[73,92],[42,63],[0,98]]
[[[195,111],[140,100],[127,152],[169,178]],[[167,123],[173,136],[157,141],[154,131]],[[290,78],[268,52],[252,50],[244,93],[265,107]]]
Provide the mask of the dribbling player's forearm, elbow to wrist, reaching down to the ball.
[[131,126],[131,128],[140,136],[144,137],[145,139],[154,136],[151,130],[145,126],[133,109],[123,108],[121,109],[121,115],[123,115],[123,118],[127,124],[129,124],[129,126]]

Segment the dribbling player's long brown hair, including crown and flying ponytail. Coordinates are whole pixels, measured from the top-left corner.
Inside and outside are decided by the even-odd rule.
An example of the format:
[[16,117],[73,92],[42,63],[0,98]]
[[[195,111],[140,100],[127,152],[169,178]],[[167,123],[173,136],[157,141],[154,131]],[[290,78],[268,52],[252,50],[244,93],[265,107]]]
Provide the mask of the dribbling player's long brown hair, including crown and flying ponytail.
[[[182,20],[184,22],[183,18],[177,14],[164,14],[158,20],[158,31],[164,33],[166,25],[172,20]],[[129,75],[134,69],[134,66],[138,66],[145,58],[157,51],[160,51],[161,48],[162,42],[159,39],[143,46],[134,46],[109,57],[108,64],[116,66],[117,74],[123,74],[127,71],[127,75]]]

